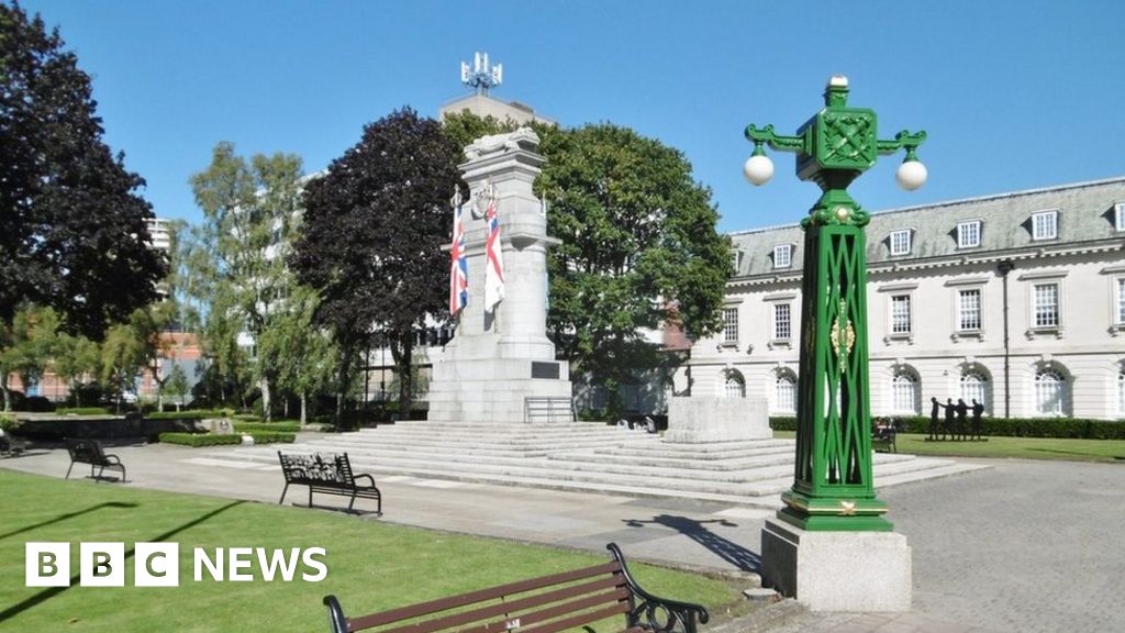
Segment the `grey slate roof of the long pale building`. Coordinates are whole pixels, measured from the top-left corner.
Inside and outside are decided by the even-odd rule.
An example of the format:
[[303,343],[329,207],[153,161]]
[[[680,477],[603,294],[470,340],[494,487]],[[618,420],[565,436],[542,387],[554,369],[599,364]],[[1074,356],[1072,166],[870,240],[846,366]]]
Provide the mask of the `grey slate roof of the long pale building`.
[[[921,264],[1114,240],[1125,244],[1125,231],[1115,226],[1118,203],[1125,203],[1125,177],[876,212],[866,229],[867,262]],[[1050,209],[1059,212],[1058,238],[1033,240],[1032,214]],[[972,220],[982,222],[980,246],[957,248],[957,224]],[[910,252],[892,256],[891,232],[903,229],[911,231]],[[729,235],[741,253],[736,278],[800,274],[804,232],[798,224]],[[785,243],[793,247],[792,266],[774,268],[774,247]]]

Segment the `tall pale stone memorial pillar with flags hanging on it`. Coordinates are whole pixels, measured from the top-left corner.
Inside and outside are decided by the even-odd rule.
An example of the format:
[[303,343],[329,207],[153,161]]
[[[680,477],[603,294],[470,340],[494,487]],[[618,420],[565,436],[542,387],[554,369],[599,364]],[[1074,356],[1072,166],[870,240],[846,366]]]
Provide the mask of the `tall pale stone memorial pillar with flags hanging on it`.
[[[536,133],[521,127],[465,149],[469,160],[459,169],[470,191],[462,214],[469,298],[452,340],[432,357],[431,421],[522,422],[529,398],[570,400],[569,368],[555,359],[547,338],[547,249],[559,242],[547,235],[544,208],[531,188],[544,161],[538,148]],[[501,225],[504,300],[486,312],[490,200]],[[573,421],[569,413],[565,421]]]

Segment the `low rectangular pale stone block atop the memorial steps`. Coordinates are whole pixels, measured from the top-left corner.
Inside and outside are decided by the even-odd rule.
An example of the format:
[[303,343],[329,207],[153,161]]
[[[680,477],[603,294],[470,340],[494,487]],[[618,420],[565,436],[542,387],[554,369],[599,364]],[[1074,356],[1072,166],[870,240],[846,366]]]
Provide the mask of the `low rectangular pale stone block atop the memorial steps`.
[[772,437],[764,399],[693,395],[668,401],[665,442],[702,444]]

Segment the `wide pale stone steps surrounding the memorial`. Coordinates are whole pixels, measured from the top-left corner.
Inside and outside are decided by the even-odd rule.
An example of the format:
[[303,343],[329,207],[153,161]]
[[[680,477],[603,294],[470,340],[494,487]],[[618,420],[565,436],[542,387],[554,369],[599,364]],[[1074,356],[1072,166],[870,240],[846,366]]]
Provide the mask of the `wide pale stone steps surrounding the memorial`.
[[[277,464],[276,446],[209,456]],[[302,436],[291,453],[344,453],[358,472],[500,485],[702,499],[776,508],[793,484],[792,439],[672,444],[608,425],[406,421],[350,434]],[[220,452],[222,451],[222,452]],[[876,488],[979,466],[878,453]]]

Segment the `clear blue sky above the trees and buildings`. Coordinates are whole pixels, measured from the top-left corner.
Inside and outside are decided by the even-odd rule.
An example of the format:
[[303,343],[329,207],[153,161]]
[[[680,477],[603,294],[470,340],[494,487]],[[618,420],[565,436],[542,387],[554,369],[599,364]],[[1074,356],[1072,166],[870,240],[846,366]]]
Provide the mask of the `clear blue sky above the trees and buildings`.
[[[1125,2],[25,0],[93,77],[106,139],[156,214],[197,222],[188,177],[222,140],[299,154],[306,171],[364,124],[469,92],[459,64],[504,64],[493,96],[568,126],[609,121],[684,152],[720,229],[796,222],[818,189],[773,154],[741,164],[749,123],[792,133],[835,73],[880,136],[929,134],[929,181],[899,157],[852,187],[870,211],[1125,175]],[[901,154],[900,154],[901,155]]]

